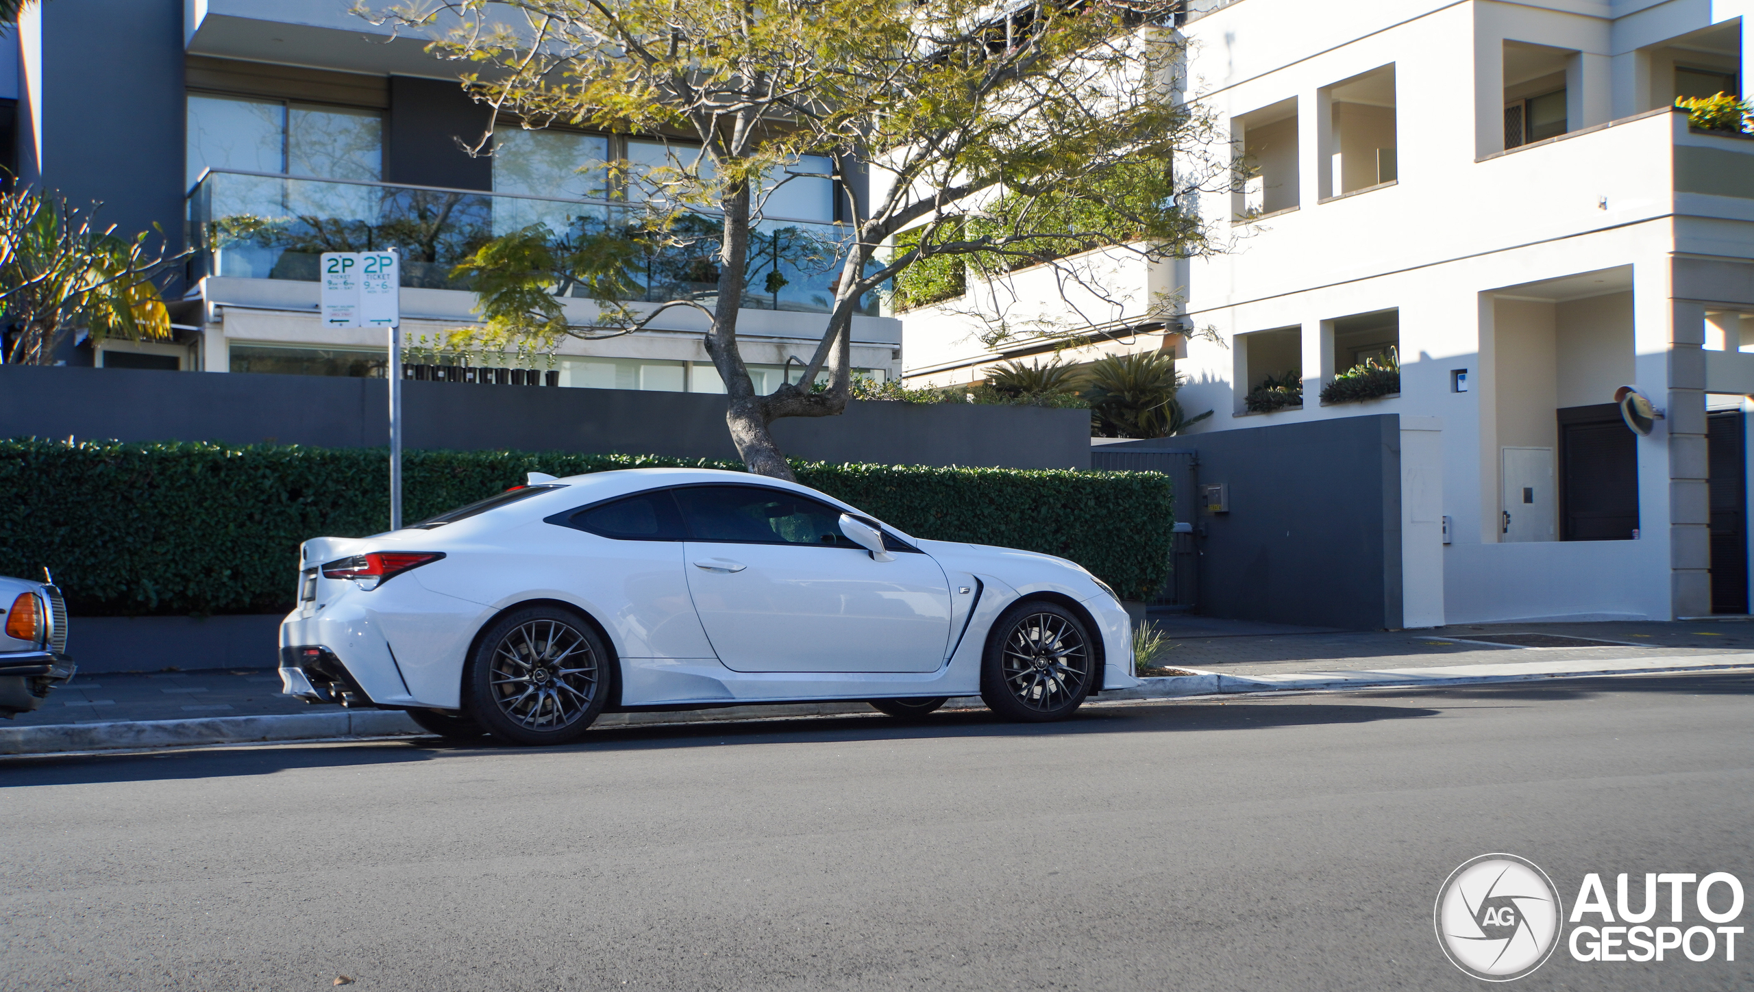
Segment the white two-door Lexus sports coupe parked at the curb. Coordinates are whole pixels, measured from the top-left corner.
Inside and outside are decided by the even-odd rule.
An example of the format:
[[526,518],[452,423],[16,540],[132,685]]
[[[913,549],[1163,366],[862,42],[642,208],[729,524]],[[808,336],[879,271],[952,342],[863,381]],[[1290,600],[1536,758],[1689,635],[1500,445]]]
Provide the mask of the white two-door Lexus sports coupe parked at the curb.
[[1058,720],[1137,685],[1114,591],[1047,554],[912,538],[805,485],[640,468],[303,543],[286,692],[451,738],[575,740],[598,713],[980,694]]

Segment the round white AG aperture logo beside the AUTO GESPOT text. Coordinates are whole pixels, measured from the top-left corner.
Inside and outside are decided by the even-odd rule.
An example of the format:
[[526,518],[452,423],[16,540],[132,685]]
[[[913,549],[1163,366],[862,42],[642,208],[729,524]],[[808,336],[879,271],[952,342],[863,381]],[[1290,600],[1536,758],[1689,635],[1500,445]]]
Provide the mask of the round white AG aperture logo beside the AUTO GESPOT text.
[[1482,854],[1437,894],[1437,941],[1456,967],[1510,981],[1540,967],[1559,943],[1559,892],[1514,854]]

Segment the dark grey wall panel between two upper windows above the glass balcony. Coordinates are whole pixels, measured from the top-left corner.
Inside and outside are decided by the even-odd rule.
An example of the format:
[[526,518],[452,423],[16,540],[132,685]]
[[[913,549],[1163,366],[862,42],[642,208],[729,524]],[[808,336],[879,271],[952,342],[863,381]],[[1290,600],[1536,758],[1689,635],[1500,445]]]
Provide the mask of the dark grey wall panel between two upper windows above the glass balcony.
[[384,182],[493,189],[493,158],[470,156],[458,144],[479,142],[488,117],[488,107],[454,81],[391,75]]

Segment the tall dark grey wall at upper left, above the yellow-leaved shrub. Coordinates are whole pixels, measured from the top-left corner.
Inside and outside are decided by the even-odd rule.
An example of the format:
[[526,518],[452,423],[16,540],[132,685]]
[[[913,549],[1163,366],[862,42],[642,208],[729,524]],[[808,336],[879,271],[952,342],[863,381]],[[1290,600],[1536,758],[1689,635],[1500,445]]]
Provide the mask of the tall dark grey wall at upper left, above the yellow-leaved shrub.
[[182,131],[182,4],[42,4],[42,158],[21,156],[28,179],[74,205],[102,200],[98,219],[126,237],[156,223],[175,249]]

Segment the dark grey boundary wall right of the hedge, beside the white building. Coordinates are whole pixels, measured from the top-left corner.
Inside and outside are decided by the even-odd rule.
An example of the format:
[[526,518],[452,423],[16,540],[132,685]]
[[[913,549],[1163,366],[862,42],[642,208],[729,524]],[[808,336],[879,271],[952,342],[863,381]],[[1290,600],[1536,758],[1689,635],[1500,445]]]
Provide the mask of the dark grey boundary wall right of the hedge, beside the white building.
[[[1198,612],[1238,620],[1401,626],[1401,428],[1394,414],[1275,424],[1098,450],[1193,450],[1230,512],[1189,514]],[[1194,507],[1175,494],[1177,507]]]

